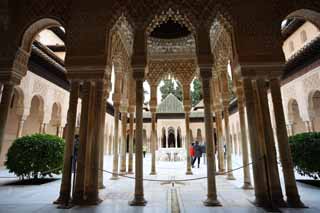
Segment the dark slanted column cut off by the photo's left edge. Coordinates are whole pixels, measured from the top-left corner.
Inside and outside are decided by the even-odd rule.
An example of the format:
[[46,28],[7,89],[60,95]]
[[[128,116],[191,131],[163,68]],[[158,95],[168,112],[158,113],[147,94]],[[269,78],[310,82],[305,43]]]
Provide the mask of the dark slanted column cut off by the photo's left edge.
[[7,123],[10,103],[13,96],[13,89],[14,89],[13,84],[3,85],[1,102],[0,102],[0,153],[1,153],[2,144],[4,141],[5,127]]

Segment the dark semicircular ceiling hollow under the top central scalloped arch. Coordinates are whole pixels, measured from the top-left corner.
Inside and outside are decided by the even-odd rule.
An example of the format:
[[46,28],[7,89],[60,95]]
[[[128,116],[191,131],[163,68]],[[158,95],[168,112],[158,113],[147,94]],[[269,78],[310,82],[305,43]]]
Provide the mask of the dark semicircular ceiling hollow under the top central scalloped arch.
[[191,32],[188,30],[187,27],[179,23],[176,23],[172,20],[168,20],[167,22],[162,23],[158,27],[156,27],[152,31],[150,36],[162,39],[176,39],[186,37],[190,34]]

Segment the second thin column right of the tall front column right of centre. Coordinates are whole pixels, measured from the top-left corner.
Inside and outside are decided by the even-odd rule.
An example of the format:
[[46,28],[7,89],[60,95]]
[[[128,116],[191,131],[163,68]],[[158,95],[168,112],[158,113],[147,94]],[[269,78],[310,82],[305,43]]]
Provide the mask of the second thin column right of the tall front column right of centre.
[[231,144],[231,136],[230,136],[230,126],[229,126],[229,101],[227,101],[223,107],[223,115],[224,115],[224,129],[225,129],[225,138],[227,144],[227,179],[235,180],[232,172],[232,144]]

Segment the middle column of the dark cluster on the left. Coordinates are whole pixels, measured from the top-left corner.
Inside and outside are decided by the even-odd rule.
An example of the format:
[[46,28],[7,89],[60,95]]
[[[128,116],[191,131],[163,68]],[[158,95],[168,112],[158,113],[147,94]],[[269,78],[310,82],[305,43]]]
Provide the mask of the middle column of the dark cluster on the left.
[[[90,93],[92,90],[91,82],[85,81],[82,89],[81,119],[80,119],[80,145],[77,159],[77,173],[75,190],[73,194],[73,203],[82,204],[84,202],[84,185],[85,185],[85,160],[88,144],[88,112]],[[69,128],[69,125],[67,125]]]

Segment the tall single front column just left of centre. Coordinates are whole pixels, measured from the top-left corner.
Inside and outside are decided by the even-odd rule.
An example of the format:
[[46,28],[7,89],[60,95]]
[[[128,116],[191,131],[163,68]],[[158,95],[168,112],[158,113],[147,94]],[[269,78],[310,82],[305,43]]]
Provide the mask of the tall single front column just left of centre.
[[[144,70],[143,70],[144,71]],[[143,73],[143,72],[142,72]],[[138,73],[137,73],[138,74]],[[139,73],[140,74],[140,73]],[[143,192],[143,78],[136,76],[136,165],[135,165],[135,190],[134,199],[130,202],[133,206],[144,206],[147,201]]]

